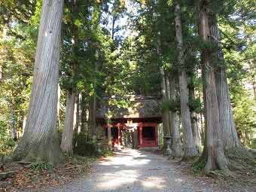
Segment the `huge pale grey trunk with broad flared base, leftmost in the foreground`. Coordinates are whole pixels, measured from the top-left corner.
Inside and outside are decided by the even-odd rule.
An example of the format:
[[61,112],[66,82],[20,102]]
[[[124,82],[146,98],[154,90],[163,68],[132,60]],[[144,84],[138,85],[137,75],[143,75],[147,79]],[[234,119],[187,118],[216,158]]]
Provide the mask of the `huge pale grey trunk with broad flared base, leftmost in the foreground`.
[[59,49],[63,0],[44,0],[35,56],[32,94],[20,145],[8,161],[65,163],[57,134]]

